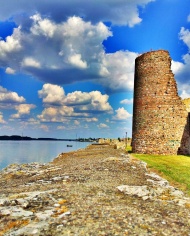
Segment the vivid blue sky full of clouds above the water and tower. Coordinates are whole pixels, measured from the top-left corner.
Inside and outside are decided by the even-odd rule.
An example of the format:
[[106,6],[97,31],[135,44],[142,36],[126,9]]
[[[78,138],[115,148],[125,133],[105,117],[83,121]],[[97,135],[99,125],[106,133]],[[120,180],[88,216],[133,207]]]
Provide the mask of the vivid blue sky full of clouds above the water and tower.
[[135,58],[164,49],[190,97],[190,0],[0,0],[0,135],[132,135]]

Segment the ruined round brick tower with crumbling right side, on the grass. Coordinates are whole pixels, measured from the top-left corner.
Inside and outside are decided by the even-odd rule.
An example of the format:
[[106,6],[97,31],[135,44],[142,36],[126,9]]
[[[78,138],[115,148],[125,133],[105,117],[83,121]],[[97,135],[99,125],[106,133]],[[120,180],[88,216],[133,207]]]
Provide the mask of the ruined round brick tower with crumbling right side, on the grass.
[[132,151],[190,154],[190,114],[178,96],[168,51],[135,60]]

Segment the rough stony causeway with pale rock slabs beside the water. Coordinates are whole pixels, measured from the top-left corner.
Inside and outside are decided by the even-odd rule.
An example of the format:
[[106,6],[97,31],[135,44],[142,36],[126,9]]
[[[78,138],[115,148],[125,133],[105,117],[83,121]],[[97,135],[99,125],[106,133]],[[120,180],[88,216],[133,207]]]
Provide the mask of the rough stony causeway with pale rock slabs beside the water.
[[0,172],[0,236],[186,235],[190,198],[113,145]]

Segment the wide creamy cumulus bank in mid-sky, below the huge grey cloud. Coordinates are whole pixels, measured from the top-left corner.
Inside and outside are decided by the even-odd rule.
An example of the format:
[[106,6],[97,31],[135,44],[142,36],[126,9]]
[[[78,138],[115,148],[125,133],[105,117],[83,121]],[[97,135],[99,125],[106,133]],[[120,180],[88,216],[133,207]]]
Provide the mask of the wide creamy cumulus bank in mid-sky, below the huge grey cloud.
[[38,115],[42,122],[65,122],[66,119],[75,117],[87,122],[96,122],[98,118],[93,114],[111,114],[113,110],[108,102],[109,96],[100,91],[75,91],[65,94],[61,86],[44,84],[38,95],[46,107]]

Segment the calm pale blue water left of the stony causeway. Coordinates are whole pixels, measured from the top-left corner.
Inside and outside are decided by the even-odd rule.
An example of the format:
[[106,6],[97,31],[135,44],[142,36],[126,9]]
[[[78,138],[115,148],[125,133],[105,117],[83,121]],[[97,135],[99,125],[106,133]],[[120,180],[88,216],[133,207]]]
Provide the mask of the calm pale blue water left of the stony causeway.
[[[73,145],[72,147],[67,147]],[[62,152],[85,148],[89,143],[74,141],[0,141],[0,170],[12,163],[47,163]]]

